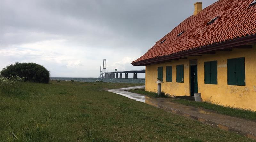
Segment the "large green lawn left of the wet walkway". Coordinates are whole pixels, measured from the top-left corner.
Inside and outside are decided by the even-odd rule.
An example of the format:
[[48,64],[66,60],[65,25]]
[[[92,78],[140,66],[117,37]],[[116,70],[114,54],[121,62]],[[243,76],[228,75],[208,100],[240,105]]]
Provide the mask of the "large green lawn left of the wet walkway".
[[135,85],[1,84],[0,141],[254,141],[105,91]]

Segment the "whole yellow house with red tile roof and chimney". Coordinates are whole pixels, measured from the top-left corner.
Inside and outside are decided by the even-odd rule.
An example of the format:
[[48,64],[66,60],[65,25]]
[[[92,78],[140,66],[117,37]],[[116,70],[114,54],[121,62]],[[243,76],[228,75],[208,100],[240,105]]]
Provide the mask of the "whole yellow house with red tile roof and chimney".
[[194,15],[132,62],[146,66],[146,90],[256,110],[256,4],[220,0]]

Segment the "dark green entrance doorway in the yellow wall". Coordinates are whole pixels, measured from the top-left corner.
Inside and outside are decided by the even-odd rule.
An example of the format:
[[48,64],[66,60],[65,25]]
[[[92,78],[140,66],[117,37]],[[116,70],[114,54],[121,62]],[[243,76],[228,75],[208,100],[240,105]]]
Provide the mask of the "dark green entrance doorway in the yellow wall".
[[190,96],[194,96],[194,93],[198,93],[197,61],[196,64],[190,64]]

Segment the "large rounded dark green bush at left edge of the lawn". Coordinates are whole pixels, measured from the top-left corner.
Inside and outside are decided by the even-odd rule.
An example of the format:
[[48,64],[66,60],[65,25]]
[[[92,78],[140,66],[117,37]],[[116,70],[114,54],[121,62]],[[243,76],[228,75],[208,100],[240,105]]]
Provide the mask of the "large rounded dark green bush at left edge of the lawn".
[[50,80],[49,71],[36,63],[16,62],[14,65],[10,64],[3,68],[0,72],[0,76],[7,78],[12,76],[19,76],[20,78],[25,77],[26,81],[38,83],[49,83]]

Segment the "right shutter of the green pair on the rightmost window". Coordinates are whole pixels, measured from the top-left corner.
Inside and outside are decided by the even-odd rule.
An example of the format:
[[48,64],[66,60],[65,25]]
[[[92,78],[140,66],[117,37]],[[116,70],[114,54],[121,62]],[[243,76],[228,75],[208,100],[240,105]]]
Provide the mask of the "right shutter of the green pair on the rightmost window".
[[245,85],[245,65],[244,58],[237,58],[236,63],[236,85]]

